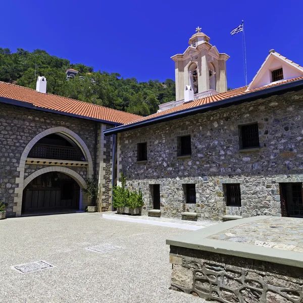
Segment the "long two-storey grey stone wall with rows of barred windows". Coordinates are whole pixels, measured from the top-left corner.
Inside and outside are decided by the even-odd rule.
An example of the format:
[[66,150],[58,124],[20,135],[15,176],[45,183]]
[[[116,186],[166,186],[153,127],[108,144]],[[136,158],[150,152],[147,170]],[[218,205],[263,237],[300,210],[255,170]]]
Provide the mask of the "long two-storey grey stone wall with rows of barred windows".
[[[289,92],[122,132],[120,170],[130,188],[142,190],[145,212],[153,209],[150,184],[160,184],[164,216],[280,216],[279,182],[303,180],[302,101],[301,92]],[[238,125],[251,122],[258,122],[260,149],[241,151]],[[177,157],[177,136],[188,134],[192,155]],[[147,142],[146,163],[137,163],[139,142]],[[196,204],[185,204],[186,183],[196,184]],[[241,207],[226,207],[225,183],[240,183]]]

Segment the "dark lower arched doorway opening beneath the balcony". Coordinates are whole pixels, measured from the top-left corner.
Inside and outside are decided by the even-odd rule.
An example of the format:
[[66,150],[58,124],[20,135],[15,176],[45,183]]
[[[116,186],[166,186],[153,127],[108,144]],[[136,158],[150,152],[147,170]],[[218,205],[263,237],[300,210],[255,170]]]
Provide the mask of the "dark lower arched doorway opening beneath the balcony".
[[67,174],[47,172],[23,190],[22,215],[79,210],[80,186]]

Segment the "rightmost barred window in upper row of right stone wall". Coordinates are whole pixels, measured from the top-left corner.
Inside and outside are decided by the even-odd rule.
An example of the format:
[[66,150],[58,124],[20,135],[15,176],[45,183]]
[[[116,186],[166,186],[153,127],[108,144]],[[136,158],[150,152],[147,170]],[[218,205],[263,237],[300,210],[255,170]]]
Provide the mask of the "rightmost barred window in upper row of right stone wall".
[[239,126],[240,149],[260,147],[258,123]]

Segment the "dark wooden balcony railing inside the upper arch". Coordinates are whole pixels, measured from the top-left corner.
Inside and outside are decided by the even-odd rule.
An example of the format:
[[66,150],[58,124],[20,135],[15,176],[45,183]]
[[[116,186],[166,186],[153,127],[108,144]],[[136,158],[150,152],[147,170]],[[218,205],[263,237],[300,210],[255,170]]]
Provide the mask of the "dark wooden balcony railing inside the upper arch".
[[57,159],[85,161],[79,147],[58,146],[48,144],[35,144],[30,150],[28,158]]

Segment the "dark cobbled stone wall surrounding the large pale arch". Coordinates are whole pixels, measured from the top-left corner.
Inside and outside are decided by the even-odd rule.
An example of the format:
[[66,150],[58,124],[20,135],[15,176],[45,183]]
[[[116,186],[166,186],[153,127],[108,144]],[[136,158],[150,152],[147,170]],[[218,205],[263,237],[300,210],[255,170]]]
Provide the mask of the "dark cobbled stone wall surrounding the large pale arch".
[[[94,122],[0,105],[0,199],[8,204],[8,217],[16,216],[13,208],[16,206],[14,198],[18,195],[15,192],[18,187],[16,178],[20,174],[17,168],[24,148],[38,133],[58,126],[68,128],[80,136],[87,145],[94,163]],[[38,169],[34,167],[26,165],[25,173]],[[83,169],[77,172],[85,177]]]

